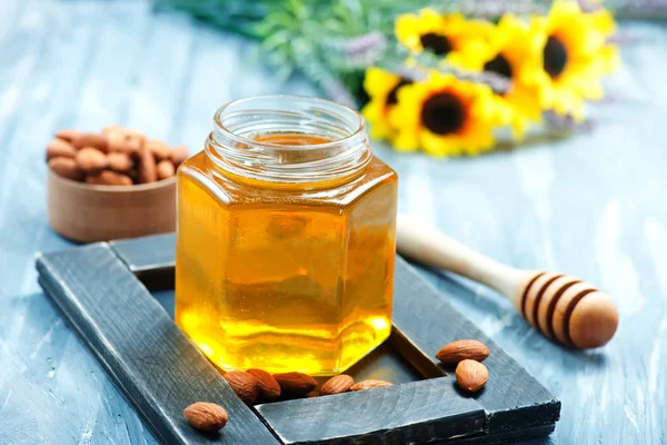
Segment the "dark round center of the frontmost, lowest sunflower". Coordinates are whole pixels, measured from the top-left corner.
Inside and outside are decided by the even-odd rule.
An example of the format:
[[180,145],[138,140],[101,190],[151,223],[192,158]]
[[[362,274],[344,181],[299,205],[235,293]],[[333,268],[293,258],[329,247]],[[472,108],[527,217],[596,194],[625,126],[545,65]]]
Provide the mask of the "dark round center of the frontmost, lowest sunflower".
[[431,96],[421,107],[421,123],[436,135],[448,135],[466,121],[466,107],[448,92]]

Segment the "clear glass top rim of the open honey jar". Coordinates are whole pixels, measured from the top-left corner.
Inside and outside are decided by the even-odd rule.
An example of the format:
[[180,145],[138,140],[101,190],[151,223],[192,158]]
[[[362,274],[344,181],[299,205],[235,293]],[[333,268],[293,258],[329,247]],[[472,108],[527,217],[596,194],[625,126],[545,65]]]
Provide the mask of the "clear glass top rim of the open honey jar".
[[332,100],[327,100],[327,99],[318,98],[315,96],[302,96],[302,95],[261,95],[261,96],[251,96],[251,97],[247,97],[247,98],[242,98],[242,99],[236,99],[236,100],[227,102],[222,107],[218,108],[218,110],[216,111],[216,115],[213,116],[213,123],[217,126],[217,129],[222,130],[225,132],[226,137],[229,137],[230,139],[233,139],[235,141],[239,142],[239,144],[260,144],[255,139],[237,135],[233,131],[229,130],[225,126],[225,123],[222,123],[222,120],[221,120],[225,111],[227,111],[231,107],[242,106],[245,103],[249,103],[255,100],[286,100],[286,99],[307,100],[307,101],[315,102],[315,103],[321,103],[322,106],[328,106],[328,107],[334,106],[334,107],[339,107],[341,110],[345,110],[345,111],[351,111],[352,115],[357,116],[357,119],[358,119],[357,129],[344,138],[331,140],[328,142],[322,142],[322,144],[290,146],[290,145],[283,145],[283,144],[271,144],[271,142],[262,141],[261,145],[263,147],[277,148],[277,149],[278,148],[286,149],[289,147],[298,147],[299,149],[307,149],[308,147],[317,147],[317,148],[326,149],[326,148],[335,147],[339,144],[352,141],[355,138],[358,138],[359,135],[362,135],[364,137],[366,137],[366,120],[359,113],[359,111],[355,110],[354,108],[351,108],[347,105],[335,102]]

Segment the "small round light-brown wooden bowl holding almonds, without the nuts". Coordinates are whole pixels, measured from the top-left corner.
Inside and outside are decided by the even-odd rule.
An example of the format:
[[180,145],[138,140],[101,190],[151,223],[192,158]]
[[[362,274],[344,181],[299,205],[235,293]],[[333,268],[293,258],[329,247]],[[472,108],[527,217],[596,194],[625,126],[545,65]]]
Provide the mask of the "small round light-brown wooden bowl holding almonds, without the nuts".
[[138,186],[98,186],[48,170],[49,224],[79,243],[176,230],[176,177]]

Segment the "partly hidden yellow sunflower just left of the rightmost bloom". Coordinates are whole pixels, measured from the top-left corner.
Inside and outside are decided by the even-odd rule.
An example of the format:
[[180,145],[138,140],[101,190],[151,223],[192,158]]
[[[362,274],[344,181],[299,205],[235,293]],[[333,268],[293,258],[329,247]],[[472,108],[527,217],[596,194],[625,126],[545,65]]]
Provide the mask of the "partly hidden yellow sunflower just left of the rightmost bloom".
[[512,14],[505,14],[492,29],[484,46],[461,59],[464,68],[487,71],[509,81],[500,93],[507,123],[520,139],[530,120],[538,121],[541,107],[539,97],[540,67],[537,65],[537,44],[530,28]]

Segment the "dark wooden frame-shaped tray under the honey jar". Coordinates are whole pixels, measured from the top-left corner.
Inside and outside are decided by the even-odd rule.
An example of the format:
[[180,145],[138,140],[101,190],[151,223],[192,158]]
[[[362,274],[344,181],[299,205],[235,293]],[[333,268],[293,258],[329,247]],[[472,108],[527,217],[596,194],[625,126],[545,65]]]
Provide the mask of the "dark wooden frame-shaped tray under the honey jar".
[[[249,408],[172,322],[173,246],[163,235],[37,258],[41,286],[162,443],[502,443],[555,428],[560,402],[400,257],[391,337],[350,370],[397,385]],[[460,338],[490,349],[490,378],[475,396],[434,358]],[[188,425],[182,411],[198,400],[226,407],[220,434]]]

